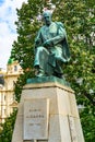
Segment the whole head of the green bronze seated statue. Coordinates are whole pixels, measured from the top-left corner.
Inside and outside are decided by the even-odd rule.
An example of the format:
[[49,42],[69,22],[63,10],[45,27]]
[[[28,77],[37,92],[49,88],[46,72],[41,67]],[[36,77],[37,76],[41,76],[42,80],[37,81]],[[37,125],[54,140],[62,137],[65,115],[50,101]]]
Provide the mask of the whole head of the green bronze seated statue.
[[51,23],[51,12],[50,11],[45,11],[43,13],[43,19],[46,25],[50,25]]

